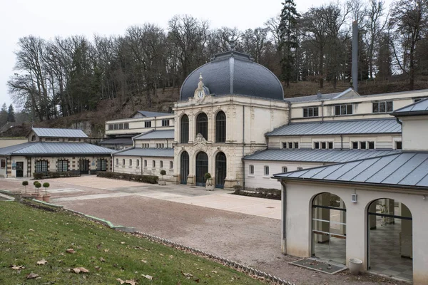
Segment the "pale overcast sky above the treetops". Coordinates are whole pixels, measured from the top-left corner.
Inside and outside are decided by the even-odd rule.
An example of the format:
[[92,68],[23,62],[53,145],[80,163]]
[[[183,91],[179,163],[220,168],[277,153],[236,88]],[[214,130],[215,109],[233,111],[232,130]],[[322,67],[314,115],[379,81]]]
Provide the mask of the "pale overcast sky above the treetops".
[[[6,82],[14,73],[19,38],[94,34],[123,35],[131,25],[146,22],[166,28],[177,14],[208,20],[211,28],[257,28],[280,13],[282,0],[1,0],[0,105],[12,103]],[[297,10],[327,3],[326,0],[295,0]]]

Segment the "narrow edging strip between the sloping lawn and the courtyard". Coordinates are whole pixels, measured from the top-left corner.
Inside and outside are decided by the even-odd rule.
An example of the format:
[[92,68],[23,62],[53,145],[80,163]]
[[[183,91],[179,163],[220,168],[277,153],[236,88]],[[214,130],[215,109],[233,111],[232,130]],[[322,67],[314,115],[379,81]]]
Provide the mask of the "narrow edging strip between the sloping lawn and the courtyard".
[[39,200],[33,200],[33,201],[39,202],[41,204],[46,204],[46,205],[49,205],[51,207],[58,207],[58,208],[66,210],[67,212],[72,212],[74,214],[78,214],[82,217],[86,217],[87,219],[91,219],[93,221],[100,222],[101,224],[104,224],[106,227],[109,227],[111,229],[115,229],[116,231],[119,231],[119,232],[128,232],[128,233],[132,233],[132,234],[138,234],[138,235],[140,235],[146,239],[150,239],[152,242],[158,242],[158,243],[170,246],[170,247],[176,247],[178,249],[191,252],[193,254],[202,254],[204,257],[208,257],[210,259],[218,261],[225,266],[229,266],[229,267],[232,267],[234,269],[238,269],[240,271],[243,271],[243,272],[245,272],[245,274],[254,275],[257,278],[262,278],[265,280],[273,281],[276,284],[280,284],[280,285],[295,285],[294,283],[291,283],[290,281],[285,281],[283,279],[278,278],[277,276],[273,276],[271,274],[267,274],[264,271],[254,269],[253,267],[245,266],[245,265],[240,264],[238,262],[235,262],[235,261],[232,261],[229,259],[225,259],[223,257],[218,257],[218,256],[216,256],[214,254],[210,254],[208,252],[203,252],[200,249],[195,249],[193,247],[186,247],[183,244],[178,244],[176,242],[172,242],[169,239],[163,239],[161,237],[153,236],[152,234],[147,234],[144,232],[136,231],[136,229],[134,227],[115,226],[112,222],[110,222],[106,219],[101,219],[98,217],[93,217],[93,216],[88,215],[88,214],[83,214],[82,212],[78,212],[78,211],[75,211],[73,209],[68,209],[68,208],[63,207],[61,205],[50,204],[50,203],[46,203],[46,202],[39,201]]

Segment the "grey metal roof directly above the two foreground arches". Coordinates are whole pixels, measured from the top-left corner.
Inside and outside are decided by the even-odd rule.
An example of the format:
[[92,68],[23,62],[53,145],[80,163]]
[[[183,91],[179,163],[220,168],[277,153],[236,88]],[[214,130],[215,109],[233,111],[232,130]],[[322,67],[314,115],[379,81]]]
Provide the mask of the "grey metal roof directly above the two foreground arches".
[[273,175],[284,180],[428,187],[428,152],[402,152]]

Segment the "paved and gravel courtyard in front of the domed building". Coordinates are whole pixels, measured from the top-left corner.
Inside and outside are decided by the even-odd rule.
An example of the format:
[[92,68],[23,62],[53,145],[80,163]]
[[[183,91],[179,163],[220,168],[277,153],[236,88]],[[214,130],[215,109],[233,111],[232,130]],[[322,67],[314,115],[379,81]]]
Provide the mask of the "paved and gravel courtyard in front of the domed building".
[[[24,191],[22,181],[0,178],[0,189]],[[239,261],[296,284],[397,284],[376,276],[330,276],[289,265],[297,258],[280,252],[277,200],[93,176],[43,182],[51,184],[48,192],[54,204]],[[33,191],[31,184],[27,191]]]

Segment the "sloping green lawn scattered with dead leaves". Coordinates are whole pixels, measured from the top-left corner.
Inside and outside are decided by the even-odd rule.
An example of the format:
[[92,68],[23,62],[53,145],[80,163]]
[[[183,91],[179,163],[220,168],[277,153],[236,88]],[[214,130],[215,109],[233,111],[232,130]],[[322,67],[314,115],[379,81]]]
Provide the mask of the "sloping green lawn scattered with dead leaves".
[[[47,263],[37,265],[42,259]],[[71,270],[76,267],[89,272],[76,274]],[[31,272],[40,277],[27,279]],[[213,261],[68,212],[0,202],[0,284],[121,284],[116,279],[138,284],[260,284]]]

